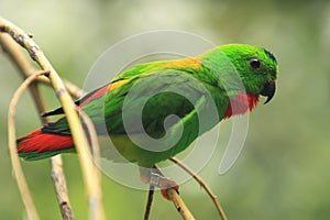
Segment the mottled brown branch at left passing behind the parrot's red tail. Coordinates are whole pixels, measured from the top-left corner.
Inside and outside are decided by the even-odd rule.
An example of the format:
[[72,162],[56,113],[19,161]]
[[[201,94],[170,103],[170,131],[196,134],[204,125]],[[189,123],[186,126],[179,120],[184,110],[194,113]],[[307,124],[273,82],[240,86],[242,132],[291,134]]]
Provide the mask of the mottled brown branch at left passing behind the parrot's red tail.
[[[21,50],[15,44],[15,42],[9,35],[0,34],[0,45],[2,46],[3,51],[7,52],[14,66],[19,69],[19,72],[24,78],[31,76],[33,73],[36,72],[32,67],[30,62],[28,62],[25,56],[22,54]],[[36,79],[46,79],[45,81],[48,81],[47,85],[50,85],[50,80],[44,76],[38,76]],[[30,85],[30,91],[32,94],[38,113],[45,112],[46,107],[38,92],[37,82],[33,81]],[[48,122],[47,118],[41,118],[41,120],[43,123]],[[56,191],[56,197],[57,197],[59,210],[62,212],[62,217],[65,220],[74,219],[69,198],[67,195],[67,185],[66,185],[66,179],[63,170],[63,162],[61,155],[51,158],[51,167],[52,167],[52,180]]]

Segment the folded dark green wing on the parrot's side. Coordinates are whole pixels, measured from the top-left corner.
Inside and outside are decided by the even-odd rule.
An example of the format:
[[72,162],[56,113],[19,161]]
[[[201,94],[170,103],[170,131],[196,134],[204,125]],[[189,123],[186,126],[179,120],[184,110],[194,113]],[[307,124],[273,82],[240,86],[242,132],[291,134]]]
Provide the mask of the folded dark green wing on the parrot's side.
[[[208,96],[208,89],[206,84],[199,81],[189,72],[163,69],[140,74],[120,87],[110,89],[103,96],[85,103],[81,110],[91,118],[99,134],[106,134],[106,132],[125,134],[128,129],[133,133],[142,133],[144,131],[141,130],[141,122],[139,123],[142,121],[146,133],[152,136],[162,136],[165,132],[165,119],[172,114],[179,118],[189,114],[196,103],[202,97]],[[94,92],[86,97],[90,97]],[[57,109],[53,112],[62,113],[63,111]],[[123,120],[130,128],[124,128]],[[167,120],[166,122],[166,127],[169,128],[178,121]],[[44,130],[70,134],[65,118],[46,125]]]

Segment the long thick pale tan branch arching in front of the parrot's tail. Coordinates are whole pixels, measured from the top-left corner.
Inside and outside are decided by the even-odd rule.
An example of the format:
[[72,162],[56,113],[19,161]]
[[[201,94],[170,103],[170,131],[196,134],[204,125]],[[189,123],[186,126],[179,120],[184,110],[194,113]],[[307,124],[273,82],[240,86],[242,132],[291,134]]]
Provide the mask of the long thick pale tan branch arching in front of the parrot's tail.
[[78,152],[82,176],[89,197],[89,212],[91,219],[103,219],[105,212],[101,204],[101,188],[98,178],[99,175],[97,173],[95,164],[91,161],[91,156],[88,151],[87,139],[79,118],[75,112],[75,105],[72,97],[67,92],[62,79],[59,78],[58,74],[53,68],[48,59],[45,57],[44,53],[23,30],[0,18],[0,31],[9,33],[12,38],[16,41],[16,43],[19,43],[29,52],[31,58],[35,61],[42,69],[50,70],[47,77],[50,78],[52,86],[55,89],[55,92],[63,106],[75,142],[75,146]]

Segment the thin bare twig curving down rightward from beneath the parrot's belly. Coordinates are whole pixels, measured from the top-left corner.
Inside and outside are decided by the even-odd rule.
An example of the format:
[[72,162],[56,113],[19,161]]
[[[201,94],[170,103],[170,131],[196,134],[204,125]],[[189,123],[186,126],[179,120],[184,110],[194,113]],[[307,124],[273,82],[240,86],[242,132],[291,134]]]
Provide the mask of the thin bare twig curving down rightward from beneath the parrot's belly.
[[218,201],[217,196],[212,193],[212,190],[207,186],[207,184],[197,175],[195,174],[191,169],[189,169],[185,164],[183,164],[178,158],[176,157],[170,157],[169,158],[172,162],[176,163],[179,167],[182,167],[184,170],[186,170],[190,176],[195,178],[195,180],[207,191],[207,194],[211,197],[213,204],[216,205],[216,208],[221,217],[222,220],[227,220],[227,217],[224,215],[224,211]]

